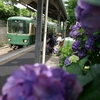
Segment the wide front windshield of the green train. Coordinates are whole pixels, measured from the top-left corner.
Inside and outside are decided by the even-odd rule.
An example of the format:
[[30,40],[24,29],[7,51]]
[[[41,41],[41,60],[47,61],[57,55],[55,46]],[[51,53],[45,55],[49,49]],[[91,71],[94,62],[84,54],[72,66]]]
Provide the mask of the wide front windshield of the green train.
[[29,34],[29,23],[23,20],[9,20],[8,33]]

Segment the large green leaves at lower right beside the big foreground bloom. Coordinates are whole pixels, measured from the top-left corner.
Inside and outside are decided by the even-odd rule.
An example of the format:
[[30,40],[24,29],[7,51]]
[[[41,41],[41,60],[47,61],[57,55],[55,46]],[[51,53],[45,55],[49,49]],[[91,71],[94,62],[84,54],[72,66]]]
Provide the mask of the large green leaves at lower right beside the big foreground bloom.
[[[85,62],[86,59],[83,59],[82,63]],[[63,69],[71,74],[76,74],[78,81],[83,86],[83,91],[77,100],[100,100],[100,64],[91,66],[86,75],[83,74],[79,63],[72,63],[68,67],[63,66]]]

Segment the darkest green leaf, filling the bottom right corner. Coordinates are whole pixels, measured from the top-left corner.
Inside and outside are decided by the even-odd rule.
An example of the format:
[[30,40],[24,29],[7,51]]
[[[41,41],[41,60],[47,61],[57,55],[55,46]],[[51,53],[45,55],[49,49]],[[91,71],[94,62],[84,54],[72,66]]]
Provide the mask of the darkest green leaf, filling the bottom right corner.
[[100,100],[100,74],[84,86],[83,92],[77,100]]

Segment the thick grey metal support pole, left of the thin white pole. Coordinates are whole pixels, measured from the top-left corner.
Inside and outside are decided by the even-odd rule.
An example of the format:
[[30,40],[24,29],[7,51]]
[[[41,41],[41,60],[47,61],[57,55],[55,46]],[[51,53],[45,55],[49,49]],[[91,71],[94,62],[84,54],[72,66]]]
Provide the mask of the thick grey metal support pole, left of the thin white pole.
[[43,0],[37,4],[37,27],[35,40],[35,63],[41,63],[41,35],[42,35]]

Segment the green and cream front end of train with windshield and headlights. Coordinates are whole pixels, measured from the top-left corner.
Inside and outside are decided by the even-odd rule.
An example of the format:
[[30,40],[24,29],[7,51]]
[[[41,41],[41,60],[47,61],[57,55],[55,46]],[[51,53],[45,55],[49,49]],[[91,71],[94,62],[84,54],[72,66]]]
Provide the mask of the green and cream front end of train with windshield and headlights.
[[35,29],[31,18],[10,17],[7,21],[7,42],[10,45],[28,46],[35,43]]

